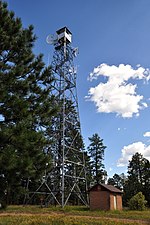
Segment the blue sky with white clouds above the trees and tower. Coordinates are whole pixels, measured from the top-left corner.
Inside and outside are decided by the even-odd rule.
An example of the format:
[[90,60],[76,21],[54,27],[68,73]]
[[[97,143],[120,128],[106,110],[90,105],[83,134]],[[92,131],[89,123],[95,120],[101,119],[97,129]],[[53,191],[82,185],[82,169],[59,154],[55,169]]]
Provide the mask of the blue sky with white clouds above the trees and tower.
[[7,0],[23,27],[34,25],[35,54],[46,65],[48,34],[67,26],[79,47],[77,92],[82,135],[107,146],[109,176],[126,172],[135,152],[150,160],[150,1]]

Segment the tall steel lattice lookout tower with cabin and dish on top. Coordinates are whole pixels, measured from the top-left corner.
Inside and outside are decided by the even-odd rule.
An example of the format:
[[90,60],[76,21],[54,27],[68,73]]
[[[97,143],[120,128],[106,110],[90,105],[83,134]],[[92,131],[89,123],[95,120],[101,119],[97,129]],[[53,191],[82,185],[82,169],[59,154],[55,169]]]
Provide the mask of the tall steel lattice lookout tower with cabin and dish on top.
[[[53,118],[51,132],[54,142],[51,146],[52,171],[47,176],[47,184],[56,204],[64,207],[68,201],[86,200],[86,172],[83,143],[80,130],[78,99],[76,90],[76,68],[74,57],[77,48],[71,46],[72,34],[67,27],[56,32],[56,37],[48,36],[47,42],[54,45],[52,70],[54,72],[53,94],[60,106]],[[48,182],[49,180],[49,182]],[[72,197],[74,196],[74,197]]]

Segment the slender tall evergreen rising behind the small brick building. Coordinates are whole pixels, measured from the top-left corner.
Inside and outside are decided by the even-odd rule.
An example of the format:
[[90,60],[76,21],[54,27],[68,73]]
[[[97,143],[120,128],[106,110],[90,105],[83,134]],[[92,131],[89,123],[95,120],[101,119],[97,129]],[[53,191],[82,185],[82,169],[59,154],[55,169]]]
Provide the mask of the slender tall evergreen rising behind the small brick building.
[[103,139],[101,139],[97,133],[89,137],[89,141],[91,143],[88,146],[88,153],[91,158],[93,182],[104,182],[106,171],[104,170],[103,160],[106,146],[104,146]]

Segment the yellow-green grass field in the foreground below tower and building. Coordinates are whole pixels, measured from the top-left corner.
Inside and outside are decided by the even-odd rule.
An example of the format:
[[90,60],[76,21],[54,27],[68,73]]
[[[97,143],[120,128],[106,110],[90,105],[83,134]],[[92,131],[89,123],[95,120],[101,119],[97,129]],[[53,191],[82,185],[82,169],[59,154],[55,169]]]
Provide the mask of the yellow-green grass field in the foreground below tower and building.
[[0,211],[0,225],[150,225],[150,210],[90,211],[86,207],[9,206]]

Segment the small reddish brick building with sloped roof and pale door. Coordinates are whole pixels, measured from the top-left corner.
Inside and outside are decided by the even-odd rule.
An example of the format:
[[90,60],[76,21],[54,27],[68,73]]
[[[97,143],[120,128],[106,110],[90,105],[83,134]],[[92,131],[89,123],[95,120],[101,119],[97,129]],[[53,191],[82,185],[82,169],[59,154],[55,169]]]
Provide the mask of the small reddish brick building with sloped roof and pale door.
[[89,190],[90,209],[122,210],[122,194],[112,185],[96,184]]

